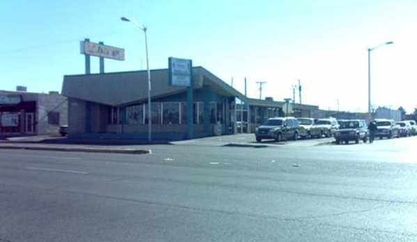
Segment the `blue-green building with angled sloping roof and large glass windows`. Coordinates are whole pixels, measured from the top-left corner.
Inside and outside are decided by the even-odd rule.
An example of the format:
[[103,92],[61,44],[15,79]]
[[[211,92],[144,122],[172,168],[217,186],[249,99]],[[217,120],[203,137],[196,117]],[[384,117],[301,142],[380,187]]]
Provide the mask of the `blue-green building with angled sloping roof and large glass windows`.
[[[252,133],[275,116],[285,116],[284,102],[247,98],[203,67],[194,78],[194,137]],[[168,84],[168,69],[151,70],[152,139],[187,139],[187,87]],[[68,137],[146,139],[148,73],[132,71],[65,75]],[[292,104],[290,116],[311,116],[318,107]]]

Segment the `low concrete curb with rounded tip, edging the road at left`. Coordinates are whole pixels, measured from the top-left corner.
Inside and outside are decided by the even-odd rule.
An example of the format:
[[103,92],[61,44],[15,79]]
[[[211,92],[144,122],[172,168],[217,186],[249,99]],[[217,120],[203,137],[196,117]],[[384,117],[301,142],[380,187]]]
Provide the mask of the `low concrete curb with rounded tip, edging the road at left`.
[[61,148],[61,147],[29,147],[29,146],[0,146],[0,149],[25,149],[29,151],[65,151],[65,152],[86,152],[86,153],[125,153],[125,154],[148,154],[150,149],[86,149],[86,148]]

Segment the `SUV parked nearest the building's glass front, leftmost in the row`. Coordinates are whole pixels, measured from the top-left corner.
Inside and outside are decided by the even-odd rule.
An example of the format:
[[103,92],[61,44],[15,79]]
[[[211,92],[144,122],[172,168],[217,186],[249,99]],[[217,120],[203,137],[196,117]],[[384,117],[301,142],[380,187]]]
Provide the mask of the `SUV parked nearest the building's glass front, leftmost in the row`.
[[275,139],[276,142],[283,139],[297,140],[299,128],[299,121],[294,117],[271,118],[255,129],[255,138],[257,142],[262,139]]

